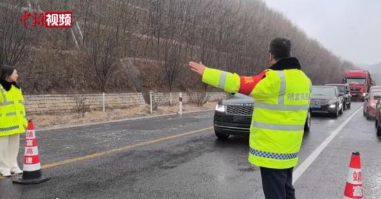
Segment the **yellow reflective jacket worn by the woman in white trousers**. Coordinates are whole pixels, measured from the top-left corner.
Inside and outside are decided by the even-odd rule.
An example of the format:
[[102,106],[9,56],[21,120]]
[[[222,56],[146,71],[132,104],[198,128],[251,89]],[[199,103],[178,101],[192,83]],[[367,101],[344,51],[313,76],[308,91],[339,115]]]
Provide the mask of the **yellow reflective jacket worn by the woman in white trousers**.
[[12,85],[6,91],[0,84],[0,93],[0,136],[24,133],[28,122],[21,90]]

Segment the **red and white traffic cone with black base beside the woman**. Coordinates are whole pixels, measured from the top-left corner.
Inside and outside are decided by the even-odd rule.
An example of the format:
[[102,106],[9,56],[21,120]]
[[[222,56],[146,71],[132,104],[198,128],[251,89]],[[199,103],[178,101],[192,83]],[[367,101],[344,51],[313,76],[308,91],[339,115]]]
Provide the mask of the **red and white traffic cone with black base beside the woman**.
[[39,184],[51,180],[42,176],[41,163],[39,162],[37,140],[33,122],[28,122],[25,139],[24,168],[22,177],[15,178],[16,184]]

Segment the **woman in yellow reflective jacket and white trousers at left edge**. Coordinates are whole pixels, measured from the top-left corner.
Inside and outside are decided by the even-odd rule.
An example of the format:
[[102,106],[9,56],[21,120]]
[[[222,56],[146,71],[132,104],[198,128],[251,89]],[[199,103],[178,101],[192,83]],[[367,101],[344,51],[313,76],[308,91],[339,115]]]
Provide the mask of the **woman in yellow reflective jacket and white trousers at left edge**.
[[0,173],[10,176],[20,174],[17,164],[19,133],[24,133],[28,124],[25,117],[24,97],[16,83],[17,71],[13,66],[1,67],[0,79]]

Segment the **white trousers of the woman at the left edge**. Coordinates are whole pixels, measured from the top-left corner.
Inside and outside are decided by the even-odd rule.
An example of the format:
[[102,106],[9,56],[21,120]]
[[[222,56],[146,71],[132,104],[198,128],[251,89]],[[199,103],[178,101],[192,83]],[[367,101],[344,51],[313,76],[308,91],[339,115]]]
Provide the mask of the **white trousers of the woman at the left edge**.
[[19,154],[20,134],[0,136],[0,171],[10,172],[11,168],[19,168],[17,155]]

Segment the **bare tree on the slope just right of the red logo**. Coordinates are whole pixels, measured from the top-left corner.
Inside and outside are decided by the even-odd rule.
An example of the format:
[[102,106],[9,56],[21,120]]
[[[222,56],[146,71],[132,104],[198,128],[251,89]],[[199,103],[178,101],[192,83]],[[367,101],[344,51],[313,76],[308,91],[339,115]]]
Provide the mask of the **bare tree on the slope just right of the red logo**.
[[[87,1],[89,12],[85,14],[84,50],[99,81],[100,90],[105,91],[109,74],[117,62],[118,48],[121,33],[121,23],[117,20],[121,17],[123,2],[110,3],[99,0],[95,5]],[[118,7],[119,6],[121,7]],[[116,8],[111,7],[112,5]],[[89,17],[94,15],[94,21]],[[111,25],[114,26],[111,26]]]

